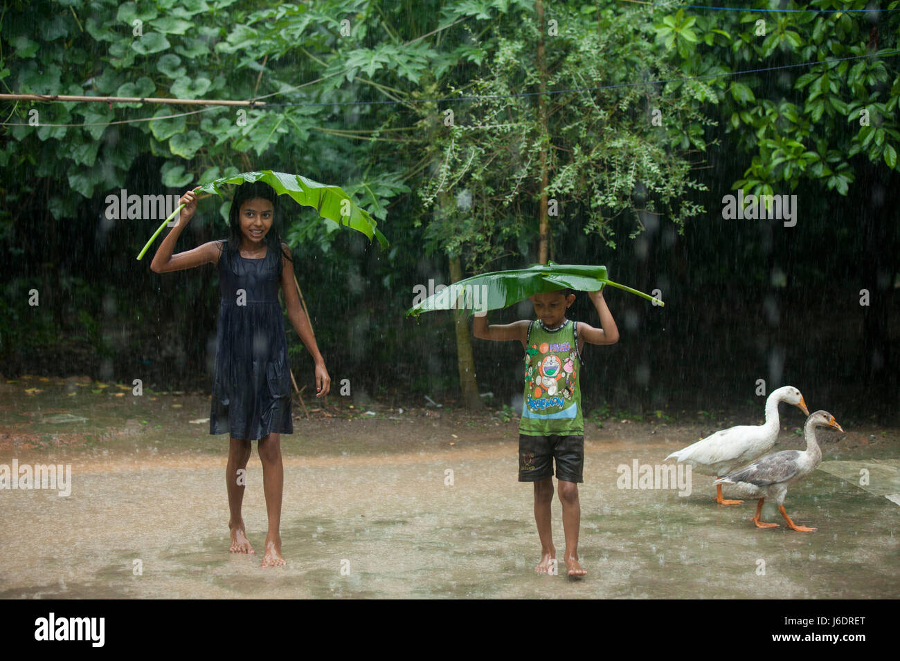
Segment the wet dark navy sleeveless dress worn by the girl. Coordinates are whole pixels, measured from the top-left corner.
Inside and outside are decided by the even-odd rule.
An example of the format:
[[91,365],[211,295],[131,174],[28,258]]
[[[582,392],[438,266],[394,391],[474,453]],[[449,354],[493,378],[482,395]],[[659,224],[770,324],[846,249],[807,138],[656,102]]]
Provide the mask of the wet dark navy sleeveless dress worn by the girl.
[[[210,433],[257,440],[293,433],[291,372],[284,316],[278,302],[281,251],[260,259],[219,257],[219,329],[212,379]],[[239,290],[243,290],[243,295]]]

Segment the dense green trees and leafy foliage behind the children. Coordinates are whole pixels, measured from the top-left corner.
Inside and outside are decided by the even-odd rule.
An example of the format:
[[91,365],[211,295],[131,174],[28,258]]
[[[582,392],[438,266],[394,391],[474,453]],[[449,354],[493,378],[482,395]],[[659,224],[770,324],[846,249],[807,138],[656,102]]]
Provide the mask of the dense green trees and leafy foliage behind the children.
[[[205,388],[214,270],[136,268],[158,222],[109,220],[104,201],[265,168],[340,185],[391,241],[381,251],[299,209],[279,219],[329,369],[365,389],[452,392],[451,319],[404,321],[412,288],[447,283],[448,258],[470,274],[534,263],[547,174],[551,258],[607,264],[613,280],[659,287],[667,303],[668,317],[610,303],[634,322],[620,326],[635,344],[608,353],[615,394],[603,397],[655,406],[709,379],[737,390],[779,376],[773,355],[786,374],[806,373],[802,353],[836,340],[788,338],[830,332],[823,296],[842,336],[862,337],[829,379],[896,392],[900,12],[777,11],[863,0],[748,4],[758,9],[570,0],[545,4],[538,25],[528,0],[6,3],[5,93],[266,105],[4,102],[0,370],[53,370],[65,356],[63,369],[151,370]],[[725,221],[723,197],[738,187],[797,194],[800,224]],[[179,249],[223,237],[227,204],[201,201]],[[792,305],[799,316],[779,316]],[[690,353],[707,323],[723,356],[704,353],[709,343]],[[639,349],[654,337],[670,343],[664,360]],[[484,364],[515,354],[476,351]],[[487,373],[498,391],[509,380]]]

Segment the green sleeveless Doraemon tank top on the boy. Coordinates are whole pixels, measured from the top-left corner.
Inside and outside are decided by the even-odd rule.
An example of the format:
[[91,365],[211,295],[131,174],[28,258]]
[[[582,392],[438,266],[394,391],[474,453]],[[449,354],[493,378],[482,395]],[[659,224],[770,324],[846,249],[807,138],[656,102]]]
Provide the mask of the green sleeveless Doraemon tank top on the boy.
[[572,319],[549,331],[540,319],[528,326],[525,401],[518,432],[527,436],[584,434],[581,417],[581,355]]

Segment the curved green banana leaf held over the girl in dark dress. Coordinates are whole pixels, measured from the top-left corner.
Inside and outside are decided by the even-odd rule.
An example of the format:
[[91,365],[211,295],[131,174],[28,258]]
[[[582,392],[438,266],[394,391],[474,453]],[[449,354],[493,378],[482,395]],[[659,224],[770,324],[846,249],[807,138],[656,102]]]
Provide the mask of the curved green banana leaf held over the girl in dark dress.
[[[377,228],[378,223],[373,219],[367,211],[360,209],[356,203],[352,201],[346,192],[342,191],[338,186],[330,186],[327,183],[314,182],[307,179],[301,174],[287,174],[284,172],[273,172],[272,170],[260,170],[259,172],[242,172],[229,177],[222,177],[210,183],[204,183],[194,191],[210,192],[216,195],[222,194],[222,186],[226,183],[268,183],[279,195],[290,195],[294,201],[305,207],[312,207],[319,212],[324,219],[333,220],[338,225],[346,225],[348,228],[356,229],[359,232],[372,238],[377,238],[378,243],[383,247],[388,246],[388,240]],[[156,234],[150,237],[147,245],[140,251],[138,259],[144,256],[148,247],[159,236],[159,233],[166,227],[168,221],[175,217],[175,213],[184,209],[184,204],[180,205],[175,212],[169,216],[166,221],[159,226]]]

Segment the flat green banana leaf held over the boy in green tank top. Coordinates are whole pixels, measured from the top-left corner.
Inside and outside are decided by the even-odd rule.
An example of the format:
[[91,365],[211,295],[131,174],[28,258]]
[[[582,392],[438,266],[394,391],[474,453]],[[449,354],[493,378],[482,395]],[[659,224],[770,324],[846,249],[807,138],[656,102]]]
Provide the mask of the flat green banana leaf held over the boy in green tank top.
[[430,310],[467,309],[477,311],[508,308],[534,294],[569,287],[578,291],[597,291],[606,285],[630,291],[644,299],[664,305],[643,291],[610,281],[606,266],[580,264],[536,264],[527,269],[482,273],[454,282],[445,290],[433,293],[407,310],[407,316],[419,316]]

